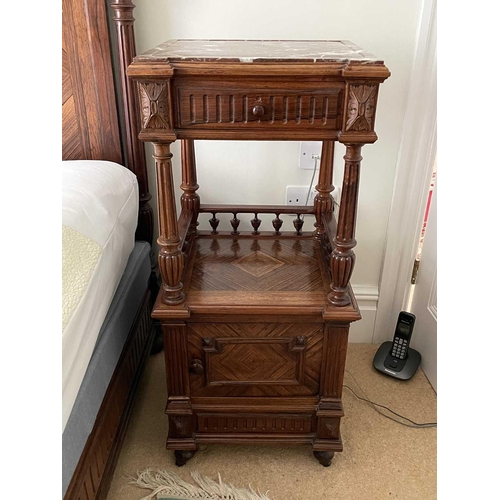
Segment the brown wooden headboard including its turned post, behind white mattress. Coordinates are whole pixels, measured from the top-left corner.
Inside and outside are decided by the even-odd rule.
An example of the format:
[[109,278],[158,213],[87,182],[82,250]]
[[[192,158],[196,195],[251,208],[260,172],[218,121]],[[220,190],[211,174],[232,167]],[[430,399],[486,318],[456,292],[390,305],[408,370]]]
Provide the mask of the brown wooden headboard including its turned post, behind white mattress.
[[[152,243],[153,212],[144,145],[138,139],[137,92],[125,73],[135,56],[135,5],[131,0],[111,0],[120,68],[114,81],[106,1],[63,0],[62,158],[109,160],[134,172],[140,205],[136,238]],[[123,136],[118,102],[123,108]]]

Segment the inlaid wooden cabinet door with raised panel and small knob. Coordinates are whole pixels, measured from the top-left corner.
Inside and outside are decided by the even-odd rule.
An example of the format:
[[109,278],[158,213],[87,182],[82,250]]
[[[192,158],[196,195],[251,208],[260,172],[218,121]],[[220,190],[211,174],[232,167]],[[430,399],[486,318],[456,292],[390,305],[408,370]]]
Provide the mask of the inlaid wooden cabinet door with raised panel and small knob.
[[191,396],[319,392],[322,323],[191,323]]

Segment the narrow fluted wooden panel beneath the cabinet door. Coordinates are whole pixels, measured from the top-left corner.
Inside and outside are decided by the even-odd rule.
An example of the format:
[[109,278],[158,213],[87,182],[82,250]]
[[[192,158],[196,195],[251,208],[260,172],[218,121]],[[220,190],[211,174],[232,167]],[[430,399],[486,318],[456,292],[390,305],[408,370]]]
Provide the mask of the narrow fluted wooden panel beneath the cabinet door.
[[312,415],[281,415],[256,413],[249,415],[226,415],[198,413],[197,432],[255,432],[255,433],[300,433],[312,432]]

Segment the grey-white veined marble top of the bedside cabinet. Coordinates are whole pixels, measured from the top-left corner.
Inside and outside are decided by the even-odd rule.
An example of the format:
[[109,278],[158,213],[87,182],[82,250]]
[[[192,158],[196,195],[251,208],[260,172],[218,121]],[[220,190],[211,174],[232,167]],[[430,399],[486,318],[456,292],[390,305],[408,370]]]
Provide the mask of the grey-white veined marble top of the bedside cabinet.
[[167,40],[136,61],[359,62],[383,61],[347,40]]

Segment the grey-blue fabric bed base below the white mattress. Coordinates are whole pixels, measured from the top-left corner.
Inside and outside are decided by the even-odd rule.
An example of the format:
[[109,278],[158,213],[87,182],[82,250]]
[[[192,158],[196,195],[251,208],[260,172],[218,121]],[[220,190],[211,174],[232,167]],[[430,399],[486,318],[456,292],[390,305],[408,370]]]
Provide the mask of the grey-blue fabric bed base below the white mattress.
[[63,496],[94,428],[102,400],[148,288],[150,252],[149,243],[135,243],[62,434]]

